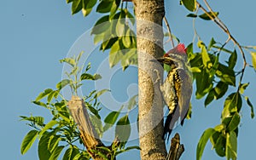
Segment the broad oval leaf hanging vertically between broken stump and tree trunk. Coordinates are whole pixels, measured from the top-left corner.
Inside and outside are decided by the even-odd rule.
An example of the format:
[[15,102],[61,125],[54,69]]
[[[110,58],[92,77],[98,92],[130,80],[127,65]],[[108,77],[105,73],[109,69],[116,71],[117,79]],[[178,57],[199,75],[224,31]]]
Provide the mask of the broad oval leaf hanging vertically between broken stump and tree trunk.
[[118,137],[120,142],[125,146],[126,141],[129,139],[131,134],[131,125],[128,115],[121,117],[115,128],[115,137]]

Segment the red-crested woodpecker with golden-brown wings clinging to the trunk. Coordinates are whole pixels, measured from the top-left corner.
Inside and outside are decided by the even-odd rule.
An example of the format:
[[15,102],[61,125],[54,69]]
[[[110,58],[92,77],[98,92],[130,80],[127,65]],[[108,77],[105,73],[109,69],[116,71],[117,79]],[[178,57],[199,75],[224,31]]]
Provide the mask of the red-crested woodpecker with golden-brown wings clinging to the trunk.
[[163,100],[169,109],[163,134],[163,139],[167,137],[168,140],[174,124],[180,121],[183,125],[184,118],[187,117],[192,94],[192,75],[187,66],[187,53],[183,43],[179,43],[157,60],[171,66],[171,71],[160,85]]

